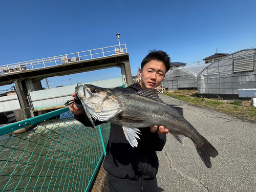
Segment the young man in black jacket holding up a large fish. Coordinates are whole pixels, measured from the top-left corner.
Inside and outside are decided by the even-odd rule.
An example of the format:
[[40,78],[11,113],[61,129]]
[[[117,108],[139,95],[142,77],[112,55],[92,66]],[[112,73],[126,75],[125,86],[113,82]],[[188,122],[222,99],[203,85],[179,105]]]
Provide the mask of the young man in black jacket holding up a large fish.
[[[127,88],[115,89],[128,93],[155,89],[160,85],[169,68],[170,58],[165,52],[151,51],[141,62],[139,69],[141,81]],[[70,111],[75,115],[75,119],[89,126],[81,108],[71,104]],[[95,124],[100,123],[102,122],[95,121]],[[158,191],[156,174],[159,163],[156,151],[162,151],[168,130],[163,126],[145,127],[139,130],[141,135],[139,135],[138,147],[132,147],[124,136],[122,126],[111,124],[103,163],[104,169],[109,173],[110,192]]]

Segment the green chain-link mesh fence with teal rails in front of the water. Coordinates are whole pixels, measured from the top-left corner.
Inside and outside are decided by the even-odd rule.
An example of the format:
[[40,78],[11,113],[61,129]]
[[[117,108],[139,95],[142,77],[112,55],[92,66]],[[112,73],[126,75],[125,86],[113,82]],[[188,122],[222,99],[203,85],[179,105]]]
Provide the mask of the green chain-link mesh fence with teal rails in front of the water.
[[0,127],[0,134],[0,191],[89,191],[110,124],[86,127],[63,108]]

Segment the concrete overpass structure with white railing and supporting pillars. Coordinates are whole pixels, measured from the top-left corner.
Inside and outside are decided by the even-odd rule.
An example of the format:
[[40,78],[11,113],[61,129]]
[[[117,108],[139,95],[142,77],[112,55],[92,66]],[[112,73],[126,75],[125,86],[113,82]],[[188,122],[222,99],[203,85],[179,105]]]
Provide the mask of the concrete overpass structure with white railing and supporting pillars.
[[44,78],[113,67],[121,69],[127,86],[133,83],[126,44],[0,66],[0,86],[14,83],[25,109],[31,107],[28,92],[42,90]]

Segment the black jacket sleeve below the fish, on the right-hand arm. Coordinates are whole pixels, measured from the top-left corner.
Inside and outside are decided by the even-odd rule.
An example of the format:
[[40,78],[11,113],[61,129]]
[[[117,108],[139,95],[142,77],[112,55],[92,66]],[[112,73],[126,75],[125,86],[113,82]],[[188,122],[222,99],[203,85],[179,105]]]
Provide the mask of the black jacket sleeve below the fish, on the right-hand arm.
[[141,135],[138,140],[138,146],[146,150],[162,151],[166,142],[166,134],[159,135],[157,132],[152,133],[150,127],[140,129]]

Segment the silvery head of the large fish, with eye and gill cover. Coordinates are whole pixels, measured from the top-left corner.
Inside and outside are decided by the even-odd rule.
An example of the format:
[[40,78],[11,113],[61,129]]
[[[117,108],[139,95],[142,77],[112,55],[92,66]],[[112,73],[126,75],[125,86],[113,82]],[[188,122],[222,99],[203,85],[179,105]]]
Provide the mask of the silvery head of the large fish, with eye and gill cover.
[[89,113],[98,120],[105,121],[115,116],[121,110],[118,97],[111,89],[100,88],[92,84],[77,86],[76,94]]

